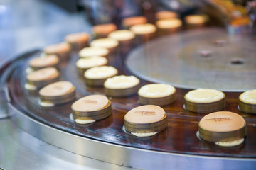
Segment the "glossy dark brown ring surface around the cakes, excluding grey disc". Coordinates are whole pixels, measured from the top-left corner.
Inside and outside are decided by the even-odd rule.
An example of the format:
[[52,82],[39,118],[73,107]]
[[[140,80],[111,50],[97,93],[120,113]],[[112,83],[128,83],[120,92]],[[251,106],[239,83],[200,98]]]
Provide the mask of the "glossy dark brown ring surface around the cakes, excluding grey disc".
[[[177,101],[163,107],[168,116],[168,128],[154,137],[139,138],[122,130],[125,113],[139,106],[137,95],[128,98],[110,98],[112,116],[90,125],[78,125],[70,119],[71,103],[54,108],[41,108],[41,106],[38,106],[38,95],[23,90],[23,85],[26,82],[24,79],[25,68],[27,67],[27,64],[24,63],[27,63],[30,57],[38,54],[40,54],[39,51],[25,54],[23,55],[23,60],[17,60],[12,64],[18,67],[11,74],[9,90],[14,106],[41,123],[82,137],[139,149],[207,156],[256,157],[256,137],[253,135],[255,133],[256,118],[255,115],[248,115],[238,111],[238,96],[240,93],[225,93],[227,96],[225,111],[239,113],[247,120],[248,135],[245,142],[238,147],[231,149],[218,147],[198,140],[196,137],[198,121],[206,114],[191,113],[183,109],[183,96],[188,92],[186,89],[177,89]],[[125,67],[118,63],[119,57],[121,56],[112,57],[110,64],[115,65],[120,73],[129,74]],[[76,86],[77,98],[88,94],[104,95],[103,88],[85,86],[84,81],[76,73],[76,60],[78,60],[78,55],[74,53],[70,62],[63,64],[61,72],[63,80],[71,81]],[[18,64],[21,62],[23,63],[22,65]],[[141,85],[147,83],[146,81],[141,81]]]

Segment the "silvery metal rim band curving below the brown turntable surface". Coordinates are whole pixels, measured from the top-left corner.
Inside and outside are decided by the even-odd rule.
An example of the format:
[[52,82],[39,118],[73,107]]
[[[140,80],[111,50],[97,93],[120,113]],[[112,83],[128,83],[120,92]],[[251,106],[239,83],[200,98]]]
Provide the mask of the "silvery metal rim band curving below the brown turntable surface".
[[[84,157],[90,157],[92,159],[101,160],[103,162],[109,162],[112,164],[119,164],[120,166],[128,166],[128,167],[136,167],[136,168],[148,168],[147,163],[150,160],[151,164],[159,164],[159,167],[164,166],[161,165],[162,162],[166,162],[165,166],[171,166],[171,164],[167,164],[169,160],[178,160],[184,159],[185,162],[191,161],[202,161],[203,159],[210,160],[211,162],[222,162],[223,160],[227,161],[225,164],[223,163],[223,167],[230,166],[230,164],[236,164],[237,167],[242,167],[246,169],[256,165],[255,159],[252,158],[232,158],[232,157],[206,157],[206,156],[198,156],[193,154],[176,154],[176,153],[166,153],[166,152],[156,152],[146,149],[138,149],[133,147],[125,147],[122,145],[114,145],[107,142],[100,142],[97,140],[88,139],[85,137],[80,137],[78,135],[73,135],[68,132],[63,132],[62,130],[58,130],[52,128],[48,125],[44,125],[43,123],[38,122],[37,120],[33,120],[29,118],[28,115],[23,114],[21,111],[18,111],[11,103],[8,103],[9,115],[11,120],[21,128],[22,130],[28,132],[34,137],[46,142],[50,145],[54,145],[55,147],[59,147],[61,149],[65,149],[69,152],[73,152],[75,154],[82,155]],[[53,140],[52,137],[55,137]],[[57,138],[56,138],[57,137]],[[59,138],[58,138],[59,137]],[[76,144],[80,146],[88,146],[90,144],[90,148],[86,147],[74,147]],[[92,147],[95,146],[95,147]],[[85,149],[86,148],[86,149]],[[97,150],[98,152],[95,152]],[[103,153],[102,153],[103,151]],[[122,155],[122,157],[120,157]],[[158,159],[155,159],[155,158]],[[132,160],[131,160],[132,159]],[[158,160],[161,159],[161,162]],[[191,160],[188,160],[191,159]],[[141,161],[138,161],[141,160]],[[207,162],[207,161],[206,161]],[[229,164],[230,163],[230,164]],[[252,163],[252,164],[250,164]],[[214,164],[214,163],[213,163]],[[192,166],[193,167],[193,166]],[[195,167],[196,168],[196,167]],[[192,168],[193,169],[193,168]]]

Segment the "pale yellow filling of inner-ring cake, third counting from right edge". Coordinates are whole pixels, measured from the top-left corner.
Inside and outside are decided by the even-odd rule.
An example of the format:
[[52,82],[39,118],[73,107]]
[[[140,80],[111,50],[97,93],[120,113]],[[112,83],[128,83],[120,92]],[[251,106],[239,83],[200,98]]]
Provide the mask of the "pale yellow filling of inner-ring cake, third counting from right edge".
[[169,84],[147,84],[142,86],[138,94],[146,98],[159,98],[174,94],[176,89]]

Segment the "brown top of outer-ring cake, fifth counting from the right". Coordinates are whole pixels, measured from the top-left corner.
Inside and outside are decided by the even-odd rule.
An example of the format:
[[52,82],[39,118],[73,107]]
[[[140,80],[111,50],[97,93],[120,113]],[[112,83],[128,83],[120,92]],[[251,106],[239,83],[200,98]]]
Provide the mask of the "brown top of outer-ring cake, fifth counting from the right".
[[47,67],[44,69],[38,69],[35,72],[31,72],[26,76],[28,81],[43,81],[48,79],[54,79],[59,76],[59,72],[55,67]]

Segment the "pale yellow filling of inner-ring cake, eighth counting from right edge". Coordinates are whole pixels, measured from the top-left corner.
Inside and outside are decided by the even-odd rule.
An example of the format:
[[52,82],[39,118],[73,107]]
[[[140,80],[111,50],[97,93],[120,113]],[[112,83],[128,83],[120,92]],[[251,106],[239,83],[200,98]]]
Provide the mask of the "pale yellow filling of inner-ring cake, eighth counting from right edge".
[[108,49],[117,47],[117,45],[119,45],[119,42],[112,38],[100,38],[90,42],[91,47],[105,47]]

